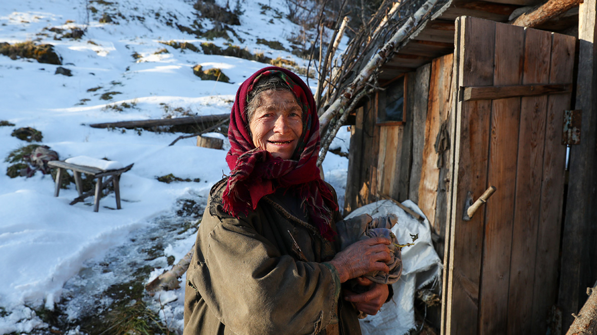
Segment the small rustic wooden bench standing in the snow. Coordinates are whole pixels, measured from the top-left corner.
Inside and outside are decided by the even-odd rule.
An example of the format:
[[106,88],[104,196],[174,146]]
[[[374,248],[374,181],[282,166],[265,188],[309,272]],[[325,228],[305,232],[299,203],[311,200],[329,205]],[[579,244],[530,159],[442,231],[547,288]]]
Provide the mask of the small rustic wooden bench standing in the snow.
[[[86,197],[91,196],[91,194],[95,194],[95,198],[93,201],[93,211],[97,212],[100,209],[100,198],[101,198],[101,190],[103,189],[104,185],[109,184],[112,182],[114,186],[114,193],[116,195],[116,208],[121,209],[120,206],[120,187],[119,187],[119,180],[120,175],[124,172],[127,172],[131,168],[133,168],[133,164],[126,166],[122,169],[117,170],[102,170],[98,168],[92,168],[91,166],[82,166],[82,165],[75,165],[70,163],[62,162],[61,160],[51,160],[48,162],[48,166],[52,168],[58,168],[56,173],[56,185],[54,185],[54,197],[57,197],[60,193],[60,179],[62,178],[62,174],[65,170],[73,170],[75,175],[75,185],[76,190],[79,192],[79,197],[73,200],[70,204],[75,204],[78,201],[84,200]],[[88,193],[83,193],[83,187],[81,184],[81,173],[85,173],[91,178],[97,178],[96,182],[96,190],[95,192],[91,191]],[[103,181],[103,177],[109,176],[106,181]]]

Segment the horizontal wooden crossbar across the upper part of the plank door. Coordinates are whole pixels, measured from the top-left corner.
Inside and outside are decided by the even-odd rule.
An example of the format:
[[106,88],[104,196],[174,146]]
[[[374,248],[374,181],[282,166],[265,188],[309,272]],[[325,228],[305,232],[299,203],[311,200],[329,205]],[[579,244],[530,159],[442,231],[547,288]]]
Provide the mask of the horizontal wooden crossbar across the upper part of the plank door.
[[463,101],[532,97],[534,95],[570,92],[572,92],[572,84],[471,86],[464,88]]

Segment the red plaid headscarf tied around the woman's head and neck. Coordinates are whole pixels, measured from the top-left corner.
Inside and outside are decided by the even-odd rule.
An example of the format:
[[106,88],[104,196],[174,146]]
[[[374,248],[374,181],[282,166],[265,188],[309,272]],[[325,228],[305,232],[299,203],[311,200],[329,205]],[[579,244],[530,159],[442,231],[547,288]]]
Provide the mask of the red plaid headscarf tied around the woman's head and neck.
[[[273,157],[266,150],[256,148],[249,134],[247,96],[261,76],[279,76],[294,92],[303,107],[303,135],[297,144],[293,159]],[[226,162],[230,177],[223,194],[223,207],[238,218],[257,208],[263,196],[280,187],[288,188],[300,197],[301,209],[309,214],[319,233],[328,240],[334,235],[331,216],[338,209],[333,194],[319,176],[316,166],[319,154],[319,119],[313,94],[297,75],[281,67],[266,67],[242,83],[230,113],[228,129],[230,150]]]

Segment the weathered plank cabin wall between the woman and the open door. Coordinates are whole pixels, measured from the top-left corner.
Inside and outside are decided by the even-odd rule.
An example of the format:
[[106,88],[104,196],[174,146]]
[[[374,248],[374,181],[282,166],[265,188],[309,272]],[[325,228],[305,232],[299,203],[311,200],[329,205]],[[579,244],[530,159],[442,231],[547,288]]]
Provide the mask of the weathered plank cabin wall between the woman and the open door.
[[403,125],[377,123],[378,108],[385,106],[384,94],[376,95],[357,111],[356,125],[351,127],[344,206],[347,215],[377,201],[379,194],[398,201],[412,200],[423,210],[438,237],[435,246],[440,257],[444,255],[446,191],[450,185],[446,167],[450,166],[450,155],[448,150],[436,151],[436,142],[450,142],[448,131],[442,132],[441,141],[438,134],[449,129],[452,67],[450,54],[408,74]]

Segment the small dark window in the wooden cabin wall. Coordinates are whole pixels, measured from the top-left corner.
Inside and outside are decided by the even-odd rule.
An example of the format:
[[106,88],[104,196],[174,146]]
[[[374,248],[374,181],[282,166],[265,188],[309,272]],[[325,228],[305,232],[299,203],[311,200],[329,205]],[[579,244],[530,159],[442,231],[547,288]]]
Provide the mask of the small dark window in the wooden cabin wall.
[[384,85],[378,95],[377,123],[381,125],[401,125],[406,121],[406,80],[402,75]]

